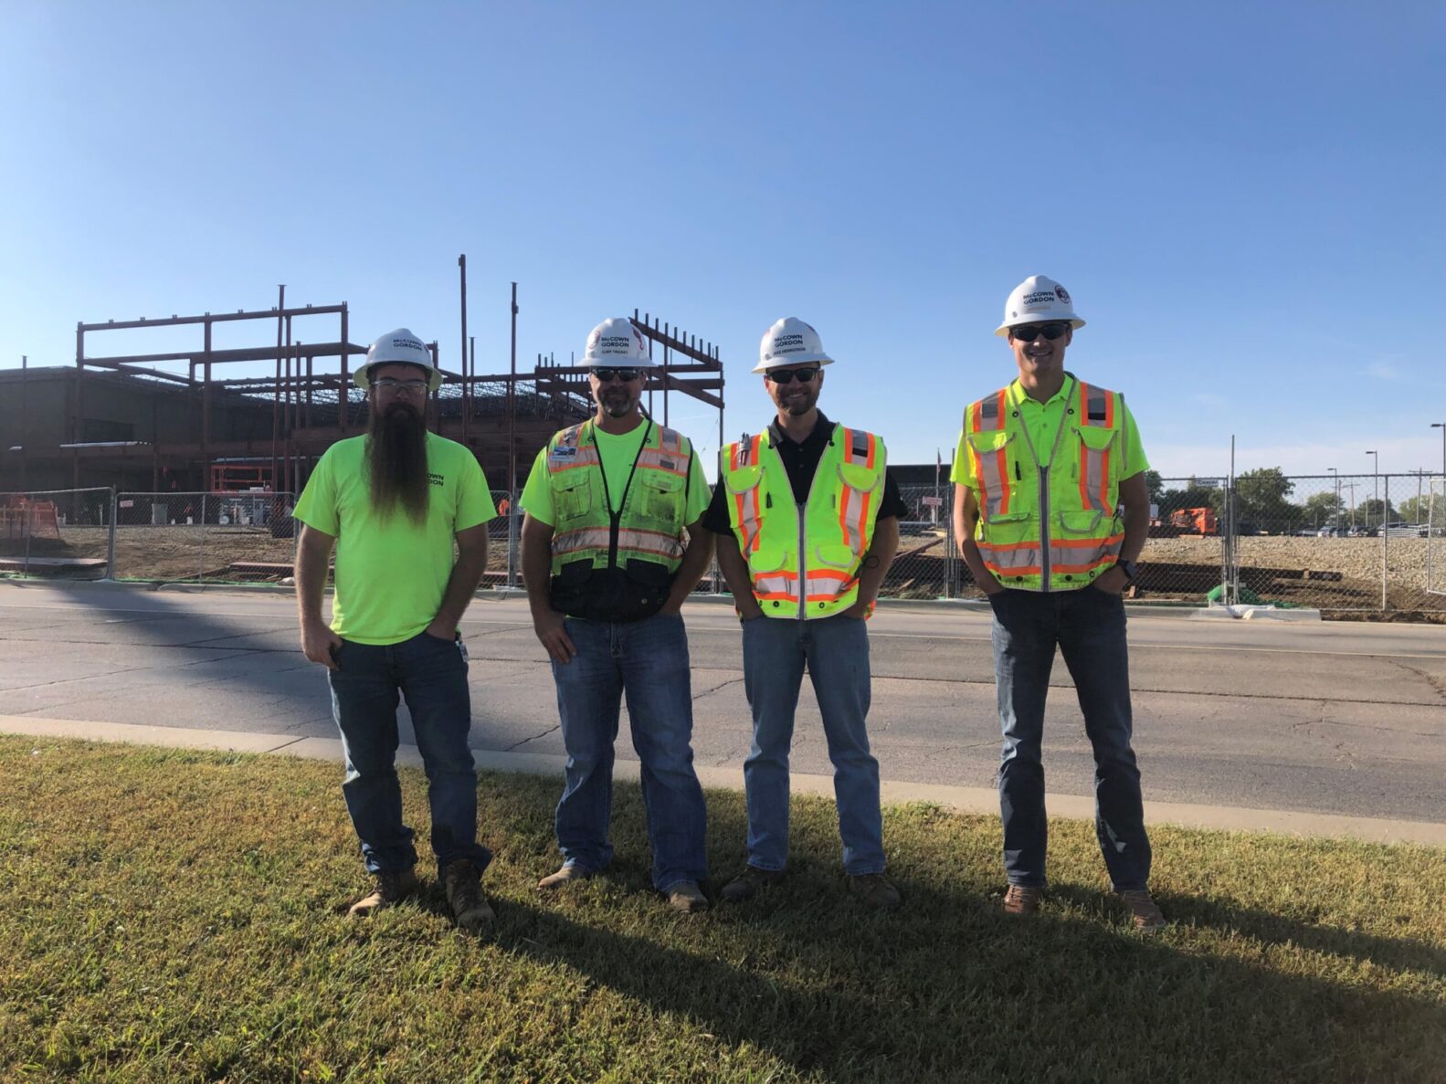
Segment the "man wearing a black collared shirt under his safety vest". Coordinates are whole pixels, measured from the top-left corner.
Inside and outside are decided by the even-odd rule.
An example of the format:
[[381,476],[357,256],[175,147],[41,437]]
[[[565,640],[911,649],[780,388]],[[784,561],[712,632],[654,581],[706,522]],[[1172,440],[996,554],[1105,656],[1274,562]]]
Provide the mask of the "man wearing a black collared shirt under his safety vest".
[[833,762],[843,867],[850,890],[899,906],[884,876],[879,763],[869,752],[869,635],[905,510],[888,477],[884,441],[818,410],[818,332],[794,317],[763,335],[755,373],[778,416],[768,431],[720,451],[719,484],[703,525],[719,535],[719,568],[743,620],[743,681],[753,746],[743,762],[748,866],[723,887],[742,902],[784,876],[788,859],[788,747],[804,668],[813,679]]

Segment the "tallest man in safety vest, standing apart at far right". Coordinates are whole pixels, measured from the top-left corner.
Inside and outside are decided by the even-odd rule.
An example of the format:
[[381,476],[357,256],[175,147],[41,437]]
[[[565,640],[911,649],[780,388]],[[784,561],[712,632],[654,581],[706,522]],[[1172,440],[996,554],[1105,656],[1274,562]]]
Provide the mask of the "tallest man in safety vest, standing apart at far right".
[[1004,909],[1031,915],[1045,885],[1044,697],[1058,646],[1095,750],[1095,827],[1134,925],[1164,925],[1150,896],[1150,838],[1131,740],[1121,593],[1150,526],[1145,460],[1125,397],[1064,370],[1084,321],[1053,279],[1025,279],[995,331],[1019,376],[964,410],[954,533],[993,608],[1004,754]]

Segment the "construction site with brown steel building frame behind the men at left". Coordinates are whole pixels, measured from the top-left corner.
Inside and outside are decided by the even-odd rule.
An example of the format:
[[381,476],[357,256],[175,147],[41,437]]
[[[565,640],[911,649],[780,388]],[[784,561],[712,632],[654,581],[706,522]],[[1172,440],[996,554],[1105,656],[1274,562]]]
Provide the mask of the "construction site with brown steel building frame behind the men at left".
[[[473,451],[506,513],[536,452],[591,412],[587,370],[555,353],[519,366],[516,283],[506,366],[479,364],[457,263],[457,345],[427,344],[442,373],[428,428]],[[630,319],[656,364],[648,413],[667,423],[687,396],[717,410],[722,439],[719,348],[648,312]],[[217,345],[237,327],[246,345]],[[188,345],[127,350],[175,330]],[[366,431],[353,379],[366,351],[346,302],[288,305],[285,286],[270,309],[78,322],[74,366],[0,370],[0,572],[282,577],[296,494],[327,448]],[[506,575],[515,562],[497,549]]]

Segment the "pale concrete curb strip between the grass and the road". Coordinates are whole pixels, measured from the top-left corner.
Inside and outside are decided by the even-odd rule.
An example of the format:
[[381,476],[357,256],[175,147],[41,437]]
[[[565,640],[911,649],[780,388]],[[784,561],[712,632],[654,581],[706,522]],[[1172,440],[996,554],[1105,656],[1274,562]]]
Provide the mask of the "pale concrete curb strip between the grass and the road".
[[[84,739],[87,741],[124,741],[145,746],[181,749],[213,749],[234,753],[299,756],[341,763],[341,740],[292,737],[286,734],[256,734],[236,730],[187,730],[179,727],[133,726],[126,723],[87,723],[68,718],[36,718],[32,715],[0,715],[0,733],[29,734],[51,739]],[[539,753],[503,753],[474,749],[479,770],[523,775],[547,775],[562,779],[565,757]],[[416,746],[401,746],[399,765],[421,767]],[[743,766],[697,767],[698,780],[706,788],[743,789]],[[638,763],[617,760],[616,779],[638,780]],[[790,776],[792,793],[833,796],[833,779],[824,775]],[[882,783],[885,805],[931,802],[964,814],[999,814],[999,796],[992,788],[943,786],[937,783]],[[1093,820],[1093,799],[1074,795],[1050,795],[1050,814],[1077,820]],[[1268,831],[1287,835],[1338,835],[1368,843],[1419,843],[1446,847],[1446,824],[1427,821],[1391,821],[1369,817],[1340,817],[1332,814],[1291,812],[1288,809],[1252,809],[1244,806],[1189,805],[1183,802],[1145,802],[1147,824],[1177,824],[1187,828],[1218,828],[1226,831]]]

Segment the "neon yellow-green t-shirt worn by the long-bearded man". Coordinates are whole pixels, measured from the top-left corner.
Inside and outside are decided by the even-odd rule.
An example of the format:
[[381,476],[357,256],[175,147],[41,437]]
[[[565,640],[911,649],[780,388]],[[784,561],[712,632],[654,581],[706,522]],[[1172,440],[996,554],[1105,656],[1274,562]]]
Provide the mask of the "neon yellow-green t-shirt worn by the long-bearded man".
[[396,509],[372,506],[366,436],[337,441],[317,464],[295,517],[337,539],[331,630],[357,643],[401,643],[432,623],[453,569],[458,530],[497,515],[487,478],[470,449],[427,434],[431,500],[418,525]]

